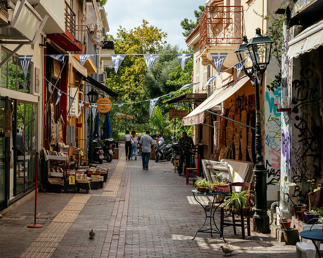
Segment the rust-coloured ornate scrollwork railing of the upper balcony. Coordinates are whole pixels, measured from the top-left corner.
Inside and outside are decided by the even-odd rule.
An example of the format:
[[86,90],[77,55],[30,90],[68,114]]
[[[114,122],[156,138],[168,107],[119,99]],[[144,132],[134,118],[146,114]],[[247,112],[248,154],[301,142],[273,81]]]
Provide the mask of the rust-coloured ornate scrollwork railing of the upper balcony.
[[242,43],[243,6],[206,6],[200,17],[200,51]]

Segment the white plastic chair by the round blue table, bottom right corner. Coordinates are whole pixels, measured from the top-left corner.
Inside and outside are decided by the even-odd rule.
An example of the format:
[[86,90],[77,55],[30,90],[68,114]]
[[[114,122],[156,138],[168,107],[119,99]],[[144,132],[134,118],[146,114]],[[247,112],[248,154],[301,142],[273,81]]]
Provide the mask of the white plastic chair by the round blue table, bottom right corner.
[[[311,229],[321,229],[323,224],[315,224],[315,225],[304,225],[303,231]],[[320,251],[323,251],[323,247],[321,247],[321,242],[316,241],[316,245],[318,246]],[[316,248],[313,243],[307,243],[307,239],[302,238],[302,242],[296,243],[296,257],[302,258],[302,253],[306,253],[307,258],[315,258]]]

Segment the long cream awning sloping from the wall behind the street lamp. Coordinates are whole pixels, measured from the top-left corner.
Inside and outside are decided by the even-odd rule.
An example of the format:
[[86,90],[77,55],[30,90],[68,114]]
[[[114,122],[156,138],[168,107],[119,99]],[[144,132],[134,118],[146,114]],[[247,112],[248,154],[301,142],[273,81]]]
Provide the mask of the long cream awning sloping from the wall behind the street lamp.
[[221,102],[229,98],[232,94],[234,94],[237,90],[239,90],[248,81],[249,77],[245,76],[241,78],[240,81],[235,81],[220,89],[217,89],[210,97],[208,97],[203,103],[201,103],[190,114],[182,119],[182,126],[202,124],[204,122],[204,110],[211,109],[214,106],[220,104]]

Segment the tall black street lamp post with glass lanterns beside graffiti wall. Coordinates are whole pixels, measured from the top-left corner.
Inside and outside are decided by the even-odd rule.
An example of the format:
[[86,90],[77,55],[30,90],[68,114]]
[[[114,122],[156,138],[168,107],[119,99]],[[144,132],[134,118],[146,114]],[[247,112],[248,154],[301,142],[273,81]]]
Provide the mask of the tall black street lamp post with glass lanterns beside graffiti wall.
[[[269,233],[269,216],[267,214],[267,174],[262,144],[261,124],[260,124],[260,95],[259,84],[262,85],[263,75],[270,61],[271,48],[274,41],[267,36],[262,36],[260,28],[256,28],[256,35],[238,46],[236,53],[239,61],[244,60],[243,55],[247,55],[252,60],[252,66],[243,68],[245,74],[250,78],[255,88],[256,104],[256,164],[255,164],[255,214],[253,216],[253,226],[255,232]],[[244,56],[245,57],[245,56]]]

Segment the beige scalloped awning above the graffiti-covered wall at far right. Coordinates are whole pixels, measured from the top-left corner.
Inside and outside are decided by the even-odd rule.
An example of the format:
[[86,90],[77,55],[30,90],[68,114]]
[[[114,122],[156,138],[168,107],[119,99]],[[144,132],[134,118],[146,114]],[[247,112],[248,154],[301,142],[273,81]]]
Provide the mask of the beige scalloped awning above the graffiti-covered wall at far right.
[[323,45],[323,19],[309,26],[288,42],[288,59],[298,57]]

